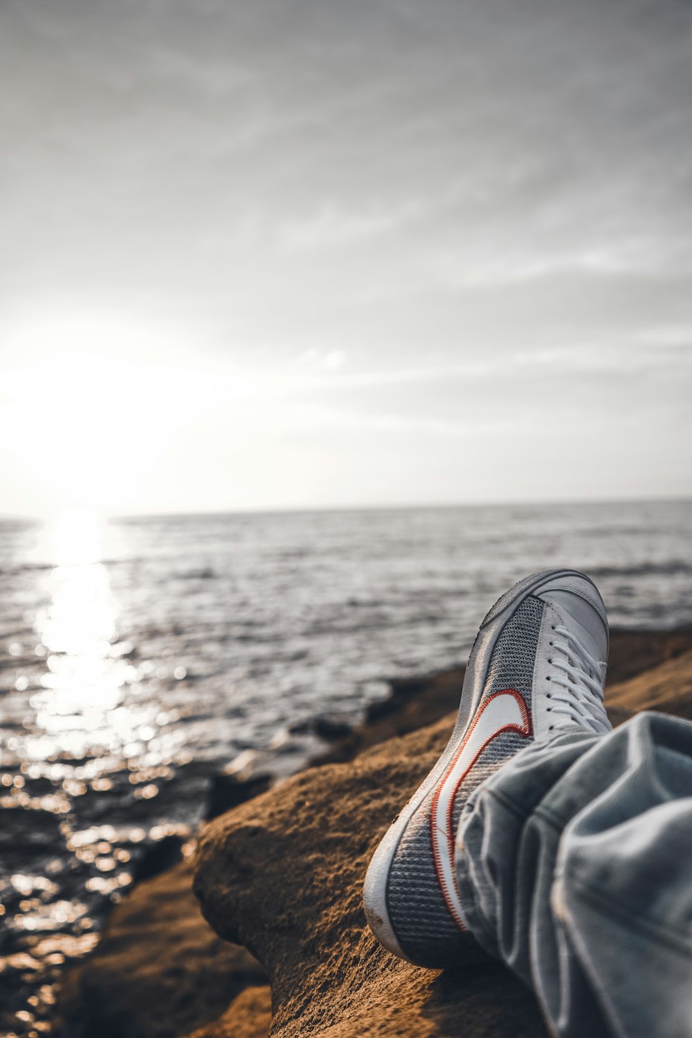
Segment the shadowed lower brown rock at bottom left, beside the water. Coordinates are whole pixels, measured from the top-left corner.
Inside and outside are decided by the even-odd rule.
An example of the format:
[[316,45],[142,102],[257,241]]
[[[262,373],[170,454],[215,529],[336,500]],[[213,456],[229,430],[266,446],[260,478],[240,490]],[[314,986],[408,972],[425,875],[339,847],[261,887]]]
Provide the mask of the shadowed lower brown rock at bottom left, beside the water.
[[264,981],[250,953],[204,922],[183,863],[139,883],[114,909],[95,953],[67,977],[55,1034],[177,1038]]

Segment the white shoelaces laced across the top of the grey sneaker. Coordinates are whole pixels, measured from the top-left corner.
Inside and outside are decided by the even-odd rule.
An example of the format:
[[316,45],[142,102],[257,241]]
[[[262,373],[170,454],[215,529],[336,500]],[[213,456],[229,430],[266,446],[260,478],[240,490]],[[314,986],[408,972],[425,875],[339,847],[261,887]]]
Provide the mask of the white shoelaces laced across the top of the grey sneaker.
[[553,654],[548,662],[558,671],[557,676],[552,674],[548,678],[553,686],[548,693],[551,701],[548,710],[556,715],[551,728],[577,726],[586,732],[608,731],[610,725],[603,705],[606,664],[593,659],[566,627],[557,626],[553,630],[564,641],[550,643]]

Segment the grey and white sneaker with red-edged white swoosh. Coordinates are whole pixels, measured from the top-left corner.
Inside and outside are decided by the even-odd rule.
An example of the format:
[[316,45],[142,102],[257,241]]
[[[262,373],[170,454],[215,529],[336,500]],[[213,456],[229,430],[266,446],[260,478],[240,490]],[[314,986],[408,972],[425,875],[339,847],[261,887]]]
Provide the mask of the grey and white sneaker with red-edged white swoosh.
[[451,738],[368,866],[365,914],[394,955],[428,968],[485,955],[464,924],[454,836],[471,792],[531,741],[610,731],[608,621],[591,580],[548,570],[495,603],[476,636]]

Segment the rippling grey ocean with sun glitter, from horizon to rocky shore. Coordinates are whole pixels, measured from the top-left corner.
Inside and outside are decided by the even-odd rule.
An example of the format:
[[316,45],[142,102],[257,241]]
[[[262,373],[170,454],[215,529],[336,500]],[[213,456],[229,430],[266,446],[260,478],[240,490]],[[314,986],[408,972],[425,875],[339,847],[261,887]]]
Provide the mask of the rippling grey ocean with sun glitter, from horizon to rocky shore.
[[533,570],[587,572],[613,626],[691,623],[691,530],[692,501],[0,521],[0,1030],[50,1018],[214,772],[295,770]]

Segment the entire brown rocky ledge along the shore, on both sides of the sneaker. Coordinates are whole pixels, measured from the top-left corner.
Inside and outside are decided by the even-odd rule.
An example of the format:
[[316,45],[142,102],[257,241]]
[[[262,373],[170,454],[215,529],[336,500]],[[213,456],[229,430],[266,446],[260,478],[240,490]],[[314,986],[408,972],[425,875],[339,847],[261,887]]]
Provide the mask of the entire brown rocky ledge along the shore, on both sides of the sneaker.
[[[363,917],[369,855],[445,745],[462,674],[399,684],[331,762],[206,826],[194,886],[213,930],[189,863],[141,883],[71,979],[62,1013],[73,1023],[61,1033],[546,1035],[532,994],[500,964],[417,969],[383,951]],[[614,722],[645,708],[692,717],[692,631],[615,632],[607,705]]]

